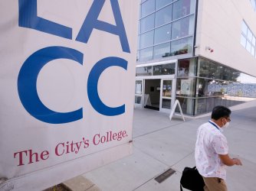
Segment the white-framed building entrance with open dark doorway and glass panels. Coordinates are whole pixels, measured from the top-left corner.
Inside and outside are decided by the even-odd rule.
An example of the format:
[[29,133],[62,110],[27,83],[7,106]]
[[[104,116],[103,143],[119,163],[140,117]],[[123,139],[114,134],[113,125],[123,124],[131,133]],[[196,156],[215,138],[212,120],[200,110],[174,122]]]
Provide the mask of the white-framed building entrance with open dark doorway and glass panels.
[[134,107],[171,112],[176,100],[177,60],[136,66]]

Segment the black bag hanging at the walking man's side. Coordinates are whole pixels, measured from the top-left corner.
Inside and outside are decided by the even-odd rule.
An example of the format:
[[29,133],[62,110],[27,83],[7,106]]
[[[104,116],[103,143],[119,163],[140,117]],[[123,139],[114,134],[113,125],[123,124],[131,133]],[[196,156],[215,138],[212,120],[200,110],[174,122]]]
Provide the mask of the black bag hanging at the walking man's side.
[[185,167],[182,171],[182,178],[180,180],[180,190],[182,187],[193,191],[203,191],[205,182],[196,167]]

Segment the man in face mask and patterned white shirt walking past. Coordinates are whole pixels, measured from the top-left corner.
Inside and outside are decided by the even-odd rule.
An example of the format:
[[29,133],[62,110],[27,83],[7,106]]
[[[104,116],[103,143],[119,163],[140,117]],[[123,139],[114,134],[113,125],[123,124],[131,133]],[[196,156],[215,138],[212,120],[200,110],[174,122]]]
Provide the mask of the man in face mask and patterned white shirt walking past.
[[195,143],[195,164],[205,182],[205,190],[226,191],[226,166],[241,165],[241,160],[228,156],[228,142],[222,131],[229,125],[231,110],[218,105],[212,119],[201,125]]

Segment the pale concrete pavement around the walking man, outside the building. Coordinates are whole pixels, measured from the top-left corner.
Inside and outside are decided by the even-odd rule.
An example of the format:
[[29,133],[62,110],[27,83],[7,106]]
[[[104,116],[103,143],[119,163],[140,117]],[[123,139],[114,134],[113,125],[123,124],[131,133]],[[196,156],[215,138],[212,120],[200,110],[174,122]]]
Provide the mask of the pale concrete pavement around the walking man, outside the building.
[[[231,125],[224,131],[231,157],[243,166],[228,167],[227,184],[232,191],[254,190],[256,181],[256,101],[231,107]],[[134,110],[133,154],[84,174],[103,191],[179,190],[184,167],[194,167],[196,130],[208,116],[173,117],[149,109]],[[169,168],[176,173],[162,183],[154,180]]]

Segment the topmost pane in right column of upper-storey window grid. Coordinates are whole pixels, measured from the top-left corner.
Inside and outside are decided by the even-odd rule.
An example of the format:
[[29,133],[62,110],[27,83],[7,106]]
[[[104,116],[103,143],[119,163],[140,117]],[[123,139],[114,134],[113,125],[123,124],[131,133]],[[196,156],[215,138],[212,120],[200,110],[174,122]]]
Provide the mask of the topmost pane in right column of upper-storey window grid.
[[172,20],[176,20],[177,18],[182,18],[185,15],[191,14],[191,0],[179,0],[173,3],[173,13]]

